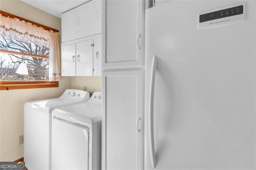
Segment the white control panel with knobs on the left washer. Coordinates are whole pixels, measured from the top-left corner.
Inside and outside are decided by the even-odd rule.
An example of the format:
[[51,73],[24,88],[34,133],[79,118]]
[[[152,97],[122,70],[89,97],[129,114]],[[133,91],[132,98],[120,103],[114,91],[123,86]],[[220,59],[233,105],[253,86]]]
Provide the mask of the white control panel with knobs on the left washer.
[[60,98],[75,101],[88,101],[90,94],[83,90],[66,89]]

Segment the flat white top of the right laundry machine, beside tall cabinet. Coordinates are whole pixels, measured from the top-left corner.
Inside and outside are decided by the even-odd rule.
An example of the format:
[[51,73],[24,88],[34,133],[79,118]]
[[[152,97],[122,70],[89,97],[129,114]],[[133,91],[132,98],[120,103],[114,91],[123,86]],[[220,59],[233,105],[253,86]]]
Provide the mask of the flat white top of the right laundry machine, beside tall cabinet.
[[60,107],[52,115],[66,117],[83,123],[94,124],[101,121],[101,103],[78,103]]

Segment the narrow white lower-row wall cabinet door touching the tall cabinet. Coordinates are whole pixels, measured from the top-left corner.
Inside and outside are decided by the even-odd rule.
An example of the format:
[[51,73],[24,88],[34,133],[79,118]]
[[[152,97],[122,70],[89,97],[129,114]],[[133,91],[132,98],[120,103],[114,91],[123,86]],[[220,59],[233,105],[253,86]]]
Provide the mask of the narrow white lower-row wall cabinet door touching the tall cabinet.
[[93,68],[94,76],[101,76],[101,38],[94,39]]

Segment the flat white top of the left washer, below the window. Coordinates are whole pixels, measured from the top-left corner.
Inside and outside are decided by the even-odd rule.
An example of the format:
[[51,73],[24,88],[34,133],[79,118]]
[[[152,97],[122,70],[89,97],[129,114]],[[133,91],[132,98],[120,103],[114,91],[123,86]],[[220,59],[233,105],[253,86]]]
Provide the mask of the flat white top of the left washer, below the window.
[[24,104],[24,107],[30,107],[32,109],[36,109],[39,111],[43,111],[46,113],[51,113],[57,107],[62,107],[65,105],[71,105],[74,103],[78,103],[78,101],[71,101],[67,99],[54,98],[54,99],[45,99],[38,101],[30,101]]

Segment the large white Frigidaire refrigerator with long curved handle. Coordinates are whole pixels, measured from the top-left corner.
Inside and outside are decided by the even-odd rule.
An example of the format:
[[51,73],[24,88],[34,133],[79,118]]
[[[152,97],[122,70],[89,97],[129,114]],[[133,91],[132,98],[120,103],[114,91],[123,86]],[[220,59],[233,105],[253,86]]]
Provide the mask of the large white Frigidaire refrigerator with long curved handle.
[[256,169],[256,2],[173,0],[145,17],[144,169]]

